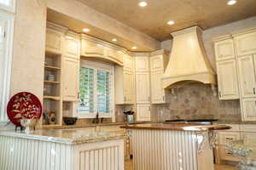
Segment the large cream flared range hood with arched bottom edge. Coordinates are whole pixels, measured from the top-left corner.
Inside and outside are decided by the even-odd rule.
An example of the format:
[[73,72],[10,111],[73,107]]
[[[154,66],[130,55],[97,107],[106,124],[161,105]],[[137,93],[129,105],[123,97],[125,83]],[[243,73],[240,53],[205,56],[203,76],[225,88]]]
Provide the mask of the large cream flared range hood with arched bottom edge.
[[198,26],[172,33],[172,53],[162,78],[163,88],[188,82],[216,84],[215,72],[207,59],[201,33]]

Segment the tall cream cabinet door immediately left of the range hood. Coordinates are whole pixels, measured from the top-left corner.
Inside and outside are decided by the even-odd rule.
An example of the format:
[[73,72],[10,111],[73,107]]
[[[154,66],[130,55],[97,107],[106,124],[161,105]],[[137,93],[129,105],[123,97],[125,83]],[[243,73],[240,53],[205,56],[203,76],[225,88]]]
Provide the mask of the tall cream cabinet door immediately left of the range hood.
[[151,102],[153,104],[165,102],[165,93],[161,82],[162,76],[163,71],[151,72]]

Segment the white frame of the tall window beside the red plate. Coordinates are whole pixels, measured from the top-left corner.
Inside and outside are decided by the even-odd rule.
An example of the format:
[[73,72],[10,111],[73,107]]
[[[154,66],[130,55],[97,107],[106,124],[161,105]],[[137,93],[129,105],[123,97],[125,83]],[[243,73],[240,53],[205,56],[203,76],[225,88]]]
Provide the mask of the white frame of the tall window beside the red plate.
[[2,84],[3,89],[0,89],[2,91],[0,93],[0,97],[3,101],[2,103],[0,103],[0,125],[1,125],[1,123],[9,122],[6,107],[9,101],[9,94],[10,94],[11,63],[12,63],[12,56],[13,56],[15,17],[12,14],[3,13],[0,10],[0,20],[7,20],[8,22],[7,29],[5,31],[6,54],[3,57],[3,60],[4,60],[3,80],[0,80],[0,83],[3,83]]

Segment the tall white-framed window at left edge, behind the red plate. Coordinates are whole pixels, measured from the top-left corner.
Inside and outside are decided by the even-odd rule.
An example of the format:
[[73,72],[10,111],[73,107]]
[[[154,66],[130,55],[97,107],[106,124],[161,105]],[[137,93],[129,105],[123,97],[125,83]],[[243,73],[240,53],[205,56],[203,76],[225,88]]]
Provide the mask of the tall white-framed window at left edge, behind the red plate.
[[6,106],[9,101],[13,36],[13,16],[0,12],[0,124],[9,120]]

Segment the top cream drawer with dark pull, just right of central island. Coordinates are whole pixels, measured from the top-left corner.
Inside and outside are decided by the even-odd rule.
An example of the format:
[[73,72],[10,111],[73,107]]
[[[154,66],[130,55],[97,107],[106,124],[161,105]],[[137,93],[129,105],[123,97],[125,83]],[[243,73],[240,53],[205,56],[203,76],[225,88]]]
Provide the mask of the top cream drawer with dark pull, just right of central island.
[[236,132],[219,132],[218,133],[218,143],[220,145],[228,145],[234,140],[239,140],[240,133]]

